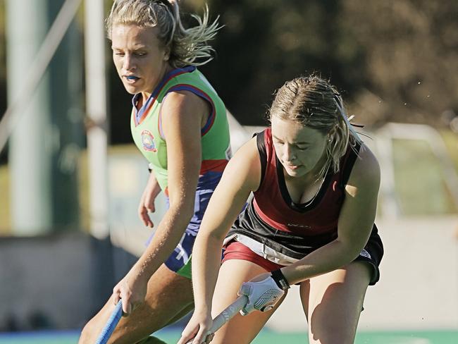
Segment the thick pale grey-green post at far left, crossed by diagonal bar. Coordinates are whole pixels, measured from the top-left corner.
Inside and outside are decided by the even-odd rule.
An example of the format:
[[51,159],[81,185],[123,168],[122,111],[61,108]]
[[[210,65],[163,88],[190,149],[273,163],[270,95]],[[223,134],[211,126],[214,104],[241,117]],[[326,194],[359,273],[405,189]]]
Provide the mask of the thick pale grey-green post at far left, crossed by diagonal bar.
[[6,2],[8,103],[22,97],[23,109],[9,141],[11,216],[15,235],[51,228],[51,159],[54,131],[49,113],[49,75],[37,90],[20,94],[29,66],[47,33],[45,0]]

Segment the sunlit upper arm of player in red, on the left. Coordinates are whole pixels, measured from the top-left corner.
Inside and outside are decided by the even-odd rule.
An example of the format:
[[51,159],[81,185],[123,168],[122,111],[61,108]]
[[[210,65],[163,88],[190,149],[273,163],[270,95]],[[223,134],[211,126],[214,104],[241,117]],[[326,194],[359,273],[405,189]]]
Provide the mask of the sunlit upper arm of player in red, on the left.
[[256,137],[237,150],[211,196],[200,233],[211,233],[221,240],[242,211],[250,192],[259,188],[261,162]]

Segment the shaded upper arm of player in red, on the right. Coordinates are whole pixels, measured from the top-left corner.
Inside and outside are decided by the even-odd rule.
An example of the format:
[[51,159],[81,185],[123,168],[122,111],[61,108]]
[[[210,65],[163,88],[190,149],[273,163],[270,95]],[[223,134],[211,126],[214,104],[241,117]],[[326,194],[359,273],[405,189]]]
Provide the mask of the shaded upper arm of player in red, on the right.
[[361,146],[345,187],[338,221],[338,240],[352,248],[355,257],[366,245],[376,218],[380,166],[373,153]]

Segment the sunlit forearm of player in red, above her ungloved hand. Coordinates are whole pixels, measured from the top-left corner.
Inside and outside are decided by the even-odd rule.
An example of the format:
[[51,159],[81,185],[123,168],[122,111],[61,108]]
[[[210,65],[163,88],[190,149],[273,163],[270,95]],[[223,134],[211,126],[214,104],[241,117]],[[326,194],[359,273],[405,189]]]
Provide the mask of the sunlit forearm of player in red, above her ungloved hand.
[[199,233],[192,250],[192,287],[194,307],[210,312],[218,271],[221,266],[223,240],[211,234]]

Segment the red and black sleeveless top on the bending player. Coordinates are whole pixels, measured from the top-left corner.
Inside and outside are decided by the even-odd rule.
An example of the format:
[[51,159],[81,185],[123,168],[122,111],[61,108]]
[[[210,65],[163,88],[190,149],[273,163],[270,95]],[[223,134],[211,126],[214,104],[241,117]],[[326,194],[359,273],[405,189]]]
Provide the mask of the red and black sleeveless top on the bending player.
[[273,147],[271,129],[256,136],[261,159],[261,183],[228,233],[244,235],[295,259],[337,238],[345,185],[361,145],[347,148],[338,173],[329,171],[316,197],[304,204],[292,202],[283,166]]

